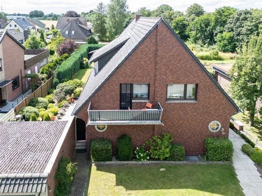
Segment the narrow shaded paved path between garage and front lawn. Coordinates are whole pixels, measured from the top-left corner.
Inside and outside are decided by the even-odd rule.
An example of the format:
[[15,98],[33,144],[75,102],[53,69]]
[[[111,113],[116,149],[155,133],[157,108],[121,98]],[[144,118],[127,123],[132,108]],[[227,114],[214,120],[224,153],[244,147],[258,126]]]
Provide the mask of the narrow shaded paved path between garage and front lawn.
[[90,167],[87,161],[87,153],[75,153],[72,161],[77,163],[77,173],[75,174],[69,196],[85,196]]

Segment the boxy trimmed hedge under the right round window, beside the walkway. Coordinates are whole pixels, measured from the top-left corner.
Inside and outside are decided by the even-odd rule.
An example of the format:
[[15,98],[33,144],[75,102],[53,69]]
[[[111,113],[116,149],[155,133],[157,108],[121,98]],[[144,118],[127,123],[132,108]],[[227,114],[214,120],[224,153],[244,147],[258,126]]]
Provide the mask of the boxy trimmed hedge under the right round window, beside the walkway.
[[204,147],[210,161],[232,161],[233,144],[228,138],[206,138]]

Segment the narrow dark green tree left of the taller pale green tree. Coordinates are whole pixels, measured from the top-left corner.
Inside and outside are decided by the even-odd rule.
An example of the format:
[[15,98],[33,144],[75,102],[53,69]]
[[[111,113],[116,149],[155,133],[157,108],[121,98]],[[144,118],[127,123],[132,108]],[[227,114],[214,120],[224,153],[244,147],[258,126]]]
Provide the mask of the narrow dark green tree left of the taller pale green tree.
[[93,20],[94,33],[97,34],[99,40],[105,40],[107,35],[106,29],[106,5],[100,2],[95,9],[95,17]]

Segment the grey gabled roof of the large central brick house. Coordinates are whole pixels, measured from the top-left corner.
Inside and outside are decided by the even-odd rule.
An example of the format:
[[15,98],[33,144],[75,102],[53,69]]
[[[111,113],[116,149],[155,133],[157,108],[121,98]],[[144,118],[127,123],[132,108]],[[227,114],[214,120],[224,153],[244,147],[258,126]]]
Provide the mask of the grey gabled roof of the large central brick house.
[[[72,115],[76,113],[84,106],[85,103],[99,90],[99,88],[110,78],[110,76],[115,73],[115,71],[122,65],[122,63],[133,53],[135,49],[146,39],[146,37],[152,32],[152,30],[161,22],[164,22],[165,25],[170,29],[178,42],[183,46],[184,49],[192,56],[200,68],[208,75],[208,77],[215,83],[220,91],[225,95],[226,98],[233,104],[237,111],[240,111],[237,105],[233,100],[228,96],[228,94],[220,87],[220,85],[215,81],[213,76],[208,73],[204,68],[201,62],[197,57],[188,49],[185,43],[179,38],[179,36],[174,32],[171,26],[162,18],[146,18],[140,17],[139,20],[133,20],[130,25],[112,42],[108,45],[98,49],[94,52],[94,57],[91,57],[90,60],[94,61],[98,59],[103,53],[116,48],[117,44],[128,39],[126,43],[122,46],[121,49],[109,60],[109,62],[99,71],[96,75],[94,70],[90,73],[87,83],[82,91]],[[97,54],[96,54],[97,53]]]

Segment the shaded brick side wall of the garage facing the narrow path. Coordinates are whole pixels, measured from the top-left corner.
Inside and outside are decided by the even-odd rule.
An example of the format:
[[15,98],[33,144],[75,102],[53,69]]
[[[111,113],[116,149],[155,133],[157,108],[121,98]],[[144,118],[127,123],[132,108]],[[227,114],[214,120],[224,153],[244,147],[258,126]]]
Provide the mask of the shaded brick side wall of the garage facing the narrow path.
[[63,156],[63,157],[72,158],[74,151],[75,151],[75,120],[73,119],[70,128],[67,132],[67,135],[64,139],[64,142],[62,144],[62,147],[59,150],[53,168],[47,178],[47,185],[51,188],[51,192],[48,192],[48,196],[54,196],[55,185],[56,185],[55,174],[60,157]]

